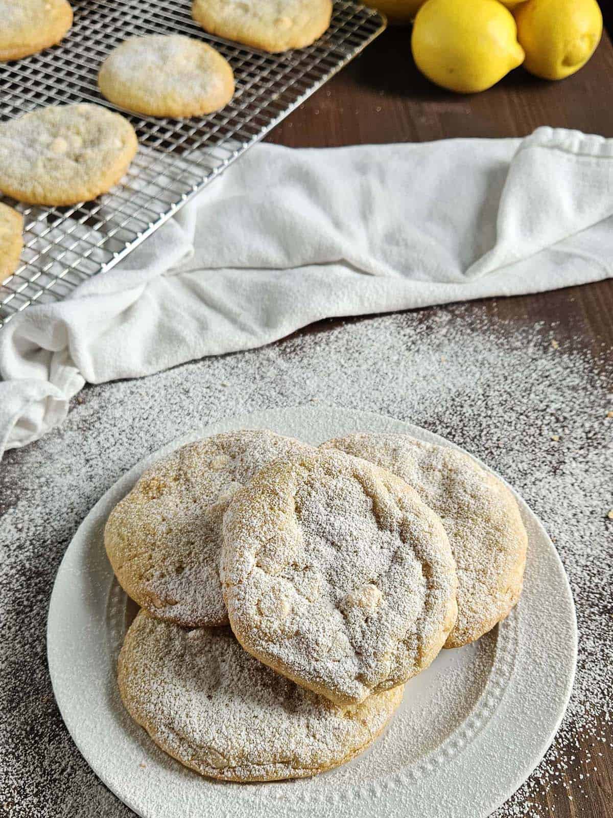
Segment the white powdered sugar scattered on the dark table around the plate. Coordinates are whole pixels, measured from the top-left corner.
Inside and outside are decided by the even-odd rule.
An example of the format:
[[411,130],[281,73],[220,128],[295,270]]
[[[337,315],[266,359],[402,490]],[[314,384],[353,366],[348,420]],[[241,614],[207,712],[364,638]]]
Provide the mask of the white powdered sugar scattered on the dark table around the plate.
[[[61,556],[98,498],[143,456],[215,420],[307,402],[431,429],[499,471],[543,519],[577,605],[575,690],[553,748],[495,818],[540,818],[531,793],[563,783],[580,793],[580,775],[600,775],[599,744],[613,743],[613,372],[611,350],[595,361],[558,333],[503,324],[473,304],[352,321],[88,388],[60,429],[8,452],[0,464],[0,806],[28,818],[130,815],[80,756],[53,701],[45,626]],[[489,638],[474,646],[485,678]],[[476,685],[472,700],[478,695]],[[442,739],[444,723],[433,734]],[[392,723],[386,757],[396,735]],[[412,735],[404,731],[407,753]],[[580,767],[579,736],[593,748]]]

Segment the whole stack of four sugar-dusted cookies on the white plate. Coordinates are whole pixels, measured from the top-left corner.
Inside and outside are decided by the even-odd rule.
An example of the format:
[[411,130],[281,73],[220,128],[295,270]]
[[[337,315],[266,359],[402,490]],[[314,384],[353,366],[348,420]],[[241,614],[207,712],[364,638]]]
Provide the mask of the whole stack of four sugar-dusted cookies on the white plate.
[[508,614],[526,542],[512,493],[454,449],[400,434],[314,448],[266,430],[190,443],[106,524],[141,606],[123,703],[202,775],[328,770],[378,737],[442,648]]

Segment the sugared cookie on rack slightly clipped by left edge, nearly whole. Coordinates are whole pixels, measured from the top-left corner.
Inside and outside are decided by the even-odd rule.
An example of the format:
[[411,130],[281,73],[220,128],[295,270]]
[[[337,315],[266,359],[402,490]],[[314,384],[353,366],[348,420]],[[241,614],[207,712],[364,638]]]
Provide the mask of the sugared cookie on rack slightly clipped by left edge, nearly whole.
[[110,190],[138,142],[119,114],[50,106],[0,124],[0,191],[30,205],[76,205]]

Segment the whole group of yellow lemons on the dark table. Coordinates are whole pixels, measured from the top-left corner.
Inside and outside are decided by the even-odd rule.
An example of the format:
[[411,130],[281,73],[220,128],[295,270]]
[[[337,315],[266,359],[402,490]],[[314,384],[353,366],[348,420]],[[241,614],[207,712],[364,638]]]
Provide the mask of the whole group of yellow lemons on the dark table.
[[414,18],[418,69],[451,91],[485,91],[518,65],[544,79],[582,68],[602,36],[597,0],[367,0],[393,23]]

